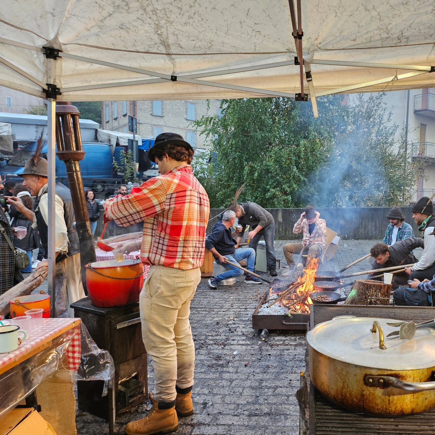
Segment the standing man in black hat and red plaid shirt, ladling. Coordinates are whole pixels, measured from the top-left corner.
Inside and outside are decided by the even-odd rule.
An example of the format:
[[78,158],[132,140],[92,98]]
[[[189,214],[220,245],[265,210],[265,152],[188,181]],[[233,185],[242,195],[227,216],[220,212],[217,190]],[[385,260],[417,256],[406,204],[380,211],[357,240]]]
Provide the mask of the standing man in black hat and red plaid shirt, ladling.
[[156,392],[150,394],[153,408],[148,415],[127,424],[128,435],[173,432],[177,414],[193,414],[190,303],[201,281],[210,212],[207,192],[192,172],[193,155],[179,134],[159,134],[148,156],[161,175],[105,205],[105,218],[118,225],[144,222],[141,258],[151,265],[140,309],[142,338],[154,361]]

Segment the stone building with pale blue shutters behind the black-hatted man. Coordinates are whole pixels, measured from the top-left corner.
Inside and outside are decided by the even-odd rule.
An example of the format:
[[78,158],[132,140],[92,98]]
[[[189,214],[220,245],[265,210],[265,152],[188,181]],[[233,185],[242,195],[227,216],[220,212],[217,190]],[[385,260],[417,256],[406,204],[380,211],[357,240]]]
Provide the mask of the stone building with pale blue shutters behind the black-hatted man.
[[[195,131],[193,121],[204,115],[219,115],[221,100],[154,100],[135,101],[137,134],[154,138],[168,131],[183,136],[193,147],[204,148],[205,137]],[[128,131],[128,115],[133,115],[132,101],[104,101],[102,128]]]

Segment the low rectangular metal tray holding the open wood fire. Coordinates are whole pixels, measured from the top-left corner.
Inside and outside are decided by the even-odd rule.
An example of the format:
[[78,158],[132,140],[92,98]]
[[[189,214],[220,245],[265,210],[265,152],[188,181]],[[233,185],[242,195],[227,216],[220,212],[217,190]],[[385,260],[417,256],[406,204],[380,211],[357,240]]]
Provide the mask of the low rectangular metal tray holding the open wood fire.
[[295,313],[290,316],[286,315],[264,315],[258,314],[261,306],[268,297],[269,291],[266,291],[261,298],[260,303],[252,315],[252,329],[274,329],[291,330],[291,331],[306,331],[310,315],[305,313]]

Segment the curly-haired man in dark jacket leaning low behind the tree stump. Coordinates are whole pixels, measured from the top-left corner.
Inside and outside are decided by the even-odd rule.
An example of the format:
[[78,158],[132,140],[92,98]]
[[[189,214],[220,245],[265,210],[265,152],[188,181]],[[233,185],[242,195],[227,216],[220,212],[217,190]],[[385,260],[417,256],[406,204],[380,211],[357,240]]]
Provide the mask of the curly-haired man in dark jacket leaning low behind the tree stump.
[[[418,259],[415,258],[412,250],[424,247],[423,239],[419,237],[399,240],[391,246],[385,243],[377,243],[370,250],[371,256],[375,259],[375,261],[371,263],[371,266],[373,269],[380,269],[400,266],[402,264],[417,263]],[[377,274],[368,275],[368,279],[371,279],[374,275]],[[393,290],[402,285],[407,285],[408,279],[409,277],[406,272],[394,274],[393,280],[391,281]]]

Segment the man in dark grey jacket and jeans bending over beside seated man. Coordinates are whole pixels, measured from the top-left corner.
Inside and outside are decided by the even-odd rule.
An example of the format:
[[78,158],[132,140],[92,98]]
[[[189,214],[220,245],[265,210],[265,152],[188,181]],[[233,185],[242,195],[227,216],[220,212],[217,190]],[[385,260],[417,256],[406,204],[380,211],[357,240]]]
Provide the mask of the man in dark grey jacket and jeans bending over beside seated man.
[[[271,276],[278,276],[276,271],[276,257],[274,248],[275,239],[275,221],[273,216],[263,207],[255,202],[242,202],[241,204],[230,205],[228,210],[236,213],[238,223],[242,226],[244,233],[246,225],[249,225],[251,231],[248,233],[249,248],[253,248],[257,255],[257,245],[263,237],[266,242],[266,261],[267,268]],[[237,236],[238,244],[241,242],[241,235]],[[240,239],[240,240],[239,240]]]

